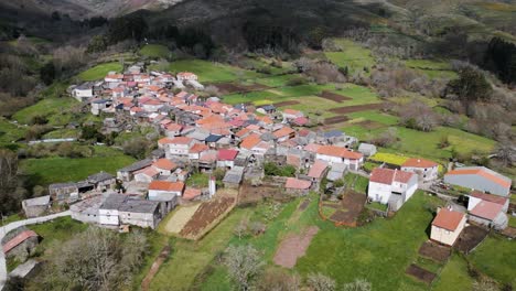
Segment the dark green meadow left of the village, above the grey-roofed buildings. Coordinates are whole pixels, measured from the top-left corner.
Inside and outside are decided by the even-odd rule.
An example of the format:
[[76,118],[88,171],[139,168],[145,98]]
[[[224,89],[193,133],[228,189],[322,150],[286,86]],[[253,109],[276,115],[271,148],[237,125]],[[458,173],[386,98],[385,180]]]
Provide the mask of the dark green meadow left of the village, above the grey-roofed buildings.
[[[109,158],[109,159],[107,159]],[[20,169],[29,174],[35,184],[80,181],[90,174],[105,171],[116,174],[117,170],[135,162],[135,159],[111,149],[95,148],[92,158],[43,158],[20,161]]]

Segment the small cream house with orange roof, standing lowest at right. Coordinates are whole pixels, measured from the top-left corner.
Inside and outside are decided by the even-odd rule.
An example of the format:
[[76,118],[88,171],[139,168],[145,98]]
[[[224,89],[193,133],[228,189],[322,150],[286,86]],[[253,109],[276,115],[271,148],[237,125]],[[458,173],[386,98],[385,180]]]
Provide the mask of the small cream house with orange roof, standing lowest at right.
[[449,208],[439,208],[432,222],[430,239],[447,246],[453,246],[466,223],[465,214]]

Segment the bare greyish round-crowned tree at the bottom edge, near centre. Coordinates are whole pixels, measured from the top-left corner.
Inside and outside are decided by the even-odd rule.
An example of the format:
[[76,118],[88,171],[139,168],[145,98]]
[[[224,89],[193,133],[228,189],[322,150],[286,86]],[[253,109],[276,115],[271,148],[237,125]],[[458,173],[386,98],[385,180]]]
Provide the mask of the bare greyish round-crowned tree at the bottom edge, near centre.
[[251,281],[264,266],[260,254],[252,246],[229,246],[225,251],[224,265],[240,290],[249,290]]

